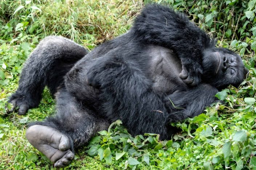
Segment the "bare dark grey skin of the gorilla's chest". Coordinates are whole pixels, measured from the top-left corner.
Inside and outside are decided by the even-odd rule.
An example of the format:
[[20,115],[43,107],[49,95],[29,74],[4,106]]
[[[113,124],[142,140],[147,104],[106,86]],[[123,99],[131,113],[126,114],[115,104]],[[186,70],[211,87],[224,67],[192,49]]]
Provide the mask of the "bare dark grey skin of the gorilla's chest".
[[176,90],[184,90],[187,85],[180,79],[182,71],[180,59],[172,50],[150,45],[150,78],[153,89],[158,93],[171,94]]

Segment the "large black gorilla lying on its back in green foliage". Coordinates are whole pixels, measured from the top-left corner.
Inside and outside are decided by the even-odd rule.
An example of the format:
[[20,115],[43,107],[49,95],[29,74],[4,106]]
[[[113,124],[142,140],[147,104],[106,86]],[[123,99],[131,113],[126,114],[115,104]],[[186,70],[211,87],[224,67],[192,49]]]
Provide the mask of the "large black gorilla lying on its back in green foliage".
[[46,37],[24,64],[9,111],[36,107],[45,86],[55,94],[57,113],[31,123],[26,136],[56,167],[117,119],[131,135],[168,139],[171,122],[199,115],[218,90],[239,86],[247,73],[239,55],[215,44],[184,14],[157,4],[145,7],[126,34],[89,53]]

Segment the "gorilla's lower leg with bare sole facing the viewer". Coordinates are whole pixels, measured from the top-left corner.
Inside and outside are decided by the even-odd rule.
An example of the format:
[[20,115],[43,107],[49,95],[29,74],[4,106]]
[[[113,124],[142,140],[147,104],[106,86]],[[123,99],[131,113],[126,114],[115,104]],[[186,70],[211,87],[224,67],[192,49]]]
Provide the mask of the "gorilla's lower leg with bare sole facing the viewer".
[[82,107],[65,88],[59,89],[56,95],[57,114],[43,122],[31,123],[26,136],[29,143],[55,162],[54,166],[64,167],[74,158],[74,148],[107,129],[109,122]]

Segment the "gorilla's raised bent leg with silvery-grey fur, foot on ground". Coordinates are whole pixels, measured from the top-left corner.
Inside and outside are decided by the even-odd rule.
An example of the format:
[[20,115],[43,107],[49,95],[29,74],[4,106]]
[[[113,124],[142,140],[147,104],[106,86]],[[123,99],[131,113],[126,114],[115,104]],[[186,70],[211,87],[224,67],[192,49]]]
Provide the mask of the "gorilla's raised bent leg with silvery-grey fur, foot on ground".
[[24,64],[19,88],[9,99],[14,106],[9,112],[19,106],[18,113],[24,115],[36,107],[46,85],[54,94],[66,73],[87,53],[84,47],[63,37],[43,39]]

